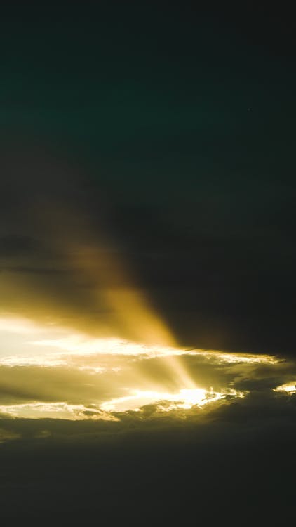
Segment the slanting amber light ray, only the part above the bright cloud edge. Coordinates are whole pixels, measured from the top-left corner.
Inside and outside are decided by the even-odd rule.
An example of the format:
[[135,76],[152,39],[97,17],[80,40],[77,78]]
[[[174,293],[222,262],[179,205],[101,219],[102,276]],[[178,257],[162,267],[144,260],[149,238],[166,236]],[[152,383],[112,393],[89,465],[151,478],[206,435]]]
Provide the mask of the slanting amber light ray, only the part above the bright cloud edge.
[[[172,346],[173,335],[152,307],[147,294],[135,286],[134,272],[123,254],[112,250],[112,242],[99,227],[90,224],[86,214],[79,214],[69,204],[42,208],[38,214],[53,250],[58,249],[72,273],[91,283],[89,306],[109,313],[97,326],[112,326],[113,334],[127,335],[133,341]],[[56,233],[58,233],[58,238]],[[55,244],[58,243],[58,246]],[[94,327],[93,327],[94,329]]]

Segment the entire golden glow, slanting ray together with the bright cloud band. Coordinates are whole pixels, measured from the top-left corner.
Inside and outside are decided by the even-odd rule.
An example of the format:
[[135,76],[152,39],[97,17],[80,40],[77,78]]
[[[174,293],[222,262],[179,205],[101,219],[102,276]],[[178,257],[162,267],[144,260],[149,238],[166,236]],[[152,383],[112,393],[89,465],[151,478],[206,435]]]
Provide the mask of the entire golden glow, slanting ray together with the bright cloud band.
[[[0,277],[0,302],[11,311],[0,313],[3,402],[9,403],[0,412],[34,419],[118,420],[112,412],[141,412],[144,405],[154,405],[156,411],[182,413],[245,396],[229,387],[234,379],[229,372],[236,369],[239,377],[241,370],[280,362],[268,355],[181,348],[124,255],[112,250],[97,226],[92,228],[86,211],[79,214],[51,202],[35,212],[37,238],[48,240],[48,251],[64,272],[60,278],[49,273],[48,279],[9,271]],[[51,265],[46,264],[48,271]],[[213,379],[207,365],[213,365]],[[194,380],[203,372],[208,384],[203,379],[200,384],[206,389]],[[215,390],[209,389],[212,383]],[[286,384],[276,391],[292,394],[296,387]]]

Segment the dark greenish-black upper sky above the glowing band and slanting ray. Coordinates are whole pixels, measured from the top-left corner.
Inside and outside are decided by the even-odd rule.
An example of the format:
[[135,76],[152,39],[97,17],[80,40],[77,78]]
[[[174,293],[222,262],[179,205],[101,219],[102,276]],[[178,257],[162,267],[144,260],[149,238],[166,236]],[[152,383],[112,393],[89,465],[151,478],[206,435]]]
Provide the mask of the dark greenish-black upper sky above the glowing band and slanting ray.
[[[56,221],[62,204],[104,231],[182,345],[295,353],[290,13],[31,4],[0,24],[3,273],[45,295],[65,274],[34,212]],[[76,277],[57,290],[81,306]]]

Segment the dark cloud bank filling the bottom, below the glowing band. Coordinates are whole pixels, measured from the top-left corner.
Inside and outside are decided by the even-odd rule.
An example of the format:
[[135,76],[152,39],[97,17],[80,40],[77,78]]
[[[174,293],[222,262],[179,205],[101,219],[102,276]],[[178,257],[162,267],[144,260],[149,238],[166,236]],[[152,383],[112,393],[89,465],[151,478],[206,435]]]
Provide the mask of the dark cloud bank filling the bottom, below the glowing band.
[[74,524],[98,516],[112,525],[292,520],[295,404],[245,399],[206,423],[161,421],[152,408],[147,417],[2,420],[7,438],[22,437],[0,448],[2,516]]

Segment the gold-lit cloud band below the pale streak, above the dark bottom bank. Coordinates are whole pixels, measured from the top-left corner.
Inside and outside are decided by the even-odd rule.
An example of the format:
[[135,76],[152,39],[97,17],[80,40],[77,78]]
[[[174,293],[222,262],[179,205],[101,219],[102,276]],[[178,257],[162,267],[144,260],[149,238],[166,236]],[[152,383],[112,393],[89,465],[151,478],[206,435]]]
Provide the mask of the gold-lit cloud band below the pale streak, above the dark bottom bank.
[[149,347],[135,345],[130,354],[67,351],[27,363],[14,356],[0,365],[0,410],[14,419],[119,421],[122,431],[128,422],[146,429],[154,421],[229,419],[236,408],[257,423],[260,408],[276,419],[278,408],[291,411],[294,391],[281,387],[295,386],[295,378],[290,359],[206,350],[149,356]]

